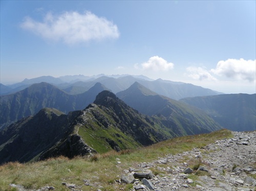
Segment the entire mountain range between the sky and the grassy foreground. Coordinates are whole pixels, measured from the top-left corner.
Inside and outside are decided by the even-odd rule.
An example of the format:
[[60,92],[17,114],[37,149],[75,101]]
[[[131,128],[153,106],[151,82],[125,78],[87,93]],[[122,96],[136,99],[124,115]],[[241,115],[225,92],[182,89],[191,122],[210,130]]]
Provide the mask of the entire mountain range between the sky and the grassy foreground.
[[135,149],[177,136],[256,126],[256,94],[220,94],[127,75],[40,77],[12,87],[1,84],[1,91],[25,86],[0,97],[0,164]]

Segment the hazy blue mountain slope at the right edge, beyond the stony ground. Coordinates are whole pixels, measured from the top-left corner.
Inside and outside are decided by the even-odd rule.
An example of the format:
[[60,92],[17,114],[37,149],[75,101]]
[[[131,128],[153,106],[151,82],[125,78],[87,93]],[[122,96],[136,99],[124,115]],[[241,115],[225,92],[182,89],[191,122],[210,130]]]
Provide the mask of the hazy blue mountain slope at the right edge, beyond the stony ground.
[[204,110],[224,128],[232,131],[256,130],[256,94],[222,94],[181,101]]

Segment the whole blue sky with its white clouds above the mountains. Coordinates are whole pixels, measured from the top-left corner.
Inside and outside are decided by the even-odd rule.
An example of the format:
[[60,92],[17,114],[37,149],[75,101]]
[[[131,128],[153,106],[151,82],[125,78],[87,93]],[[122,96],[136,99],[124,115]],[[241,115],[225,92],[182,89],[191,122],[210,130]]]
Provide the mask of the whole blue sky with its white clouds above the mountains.
[[256,1],[0,1],[0,82],[144,75],[256,92]]

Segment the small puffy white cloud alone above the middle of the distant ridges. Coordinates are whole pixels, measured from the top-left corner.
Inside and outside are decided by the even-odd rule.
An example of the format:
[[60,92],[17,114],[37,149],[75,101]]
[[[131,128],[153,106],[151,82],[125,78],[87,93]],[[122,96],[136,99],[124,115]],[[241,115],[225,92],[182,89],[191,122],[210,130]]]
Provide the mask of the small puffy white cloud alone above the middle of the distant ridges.
[[[139,64],[135,64],[134,67],[138,69]],[[159,56],[153,56],[148,59],[147,62],[142,63],[141,67],[143,70],[168,71],[169,69],[174,68],[174,64],[171,62],[167,62]]]

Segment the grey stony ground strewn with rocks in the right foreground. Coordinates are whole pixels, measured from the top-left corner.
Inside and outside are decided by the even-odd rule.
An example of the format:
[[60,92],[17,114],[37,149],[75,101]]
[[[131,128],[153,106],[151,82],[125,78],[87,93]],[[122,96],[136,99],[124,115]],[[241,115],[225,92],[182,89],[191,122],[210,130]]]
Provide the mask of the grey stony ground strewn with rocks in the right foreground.
[[[116,185],[130,183],[133,185],[131,191],[255,191],[256,131],[232,133],[233,138],[217,140],[204,148],[167,155],[149,163],[138,164],[137,168],[124,170],[121,178],[116,180]],[[117,159],[117,163],[121,162]],[[62,184],[71,190],[81,190],[74,184]],[[84,180],[84,184],[93,183]],[[12,186],[17,190],[26,190],[19,185]],[[39,190],[54,189],[47,186]]]

